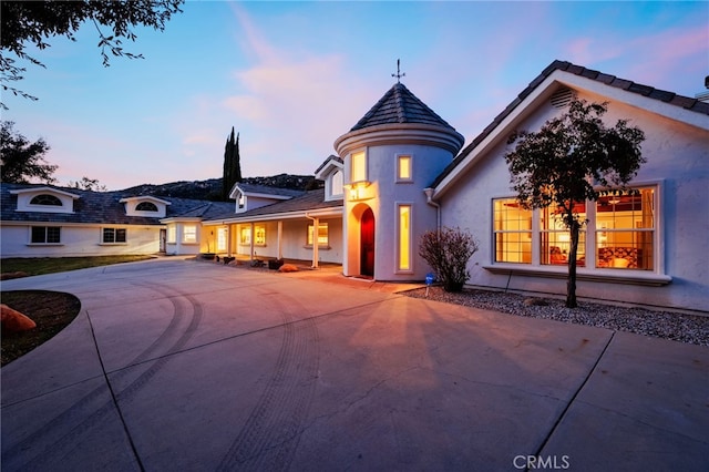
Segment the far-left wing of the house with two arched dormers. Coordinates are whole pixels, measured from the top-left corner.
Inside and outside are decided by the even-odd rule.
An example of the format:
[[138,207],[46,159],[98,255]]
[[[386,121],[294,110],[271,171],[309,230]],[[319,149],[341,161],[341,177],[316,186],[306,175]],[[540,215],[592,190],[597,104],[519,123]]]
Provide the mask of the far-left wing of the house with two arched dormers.
[[[230,203],[4,183],[0,201],[2,257],[196,254],[203,243],[202,219],[234,207]],[[194,232],[184,224],[179,237],[171,239],[161,219],[182,215],[181,222],[194,223]]]

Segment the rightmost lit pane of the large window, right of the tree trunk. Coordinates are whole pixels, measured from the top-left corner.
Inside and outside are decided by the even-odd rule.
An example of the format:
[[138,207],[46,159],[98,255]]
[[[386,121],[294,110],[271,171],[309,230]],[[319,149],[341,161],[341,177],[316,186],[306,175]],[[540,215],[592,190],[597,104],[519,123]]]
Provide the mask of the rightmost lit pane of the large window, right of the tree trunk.
[[655,189],[596,202],[596,267],[653,270]]

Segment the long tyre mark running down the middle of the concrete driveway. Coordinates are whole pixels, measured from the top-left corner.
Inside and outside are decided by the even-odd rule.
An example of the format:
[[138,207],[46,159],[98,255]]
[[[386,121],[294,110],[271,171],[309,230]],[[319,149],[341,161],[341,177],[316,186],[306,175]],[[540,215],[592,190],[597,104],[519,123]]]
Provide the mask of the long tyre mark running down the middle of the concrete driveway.
[[[274,296],[269,296],[274,295]],[[312,318],[295,320],[305,307],[295,297],[263,294],[281,312],[282,341],[270,379],[218,470],[287,470],[315,394],[319,338]]]

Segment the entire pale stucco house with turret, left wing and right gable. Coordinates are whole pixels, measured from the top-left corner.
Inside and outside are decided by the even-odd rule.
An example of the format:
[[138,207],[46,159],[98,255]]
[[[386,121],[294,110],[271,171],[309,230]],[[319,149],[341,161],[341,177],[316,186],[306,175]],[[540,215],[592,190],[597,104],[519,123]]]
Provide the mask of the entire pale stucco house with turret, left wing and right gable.
[[[520,208],[504,155],[513,131],[537,131],[573,96],[608,102],[608,124],[629,119],[639,126],[647,158],[630,183],[637,195],[578,203],[588,223],[577,295],[709,311],[709,103],[562,61],[462,151],[463,136],[397,82],[336,140],[338,155],[316,171],[325,182],[318,191],[239,183],[230,193],[235,207],[3,185],[2,255],[63,254],[53,243],[59,226],[66,252],[81,254],[125,244],[126,253],[328,261],[342,264],[346,276],[420,281],[431,270],[418,255],[421,235],[449,226],[480,240],[467,267],[472,286],[562,295],[567,233],[554,212]],[[40,195],[49,199],[32,203]],[[111,213],[88,211],[94,198],[113,198],[105,203]],[[146,216],[148,204],[165,213]],[[84,232],[75,244],[68,238],[74,226]],[[131,235],[143,234],[133,244]]]

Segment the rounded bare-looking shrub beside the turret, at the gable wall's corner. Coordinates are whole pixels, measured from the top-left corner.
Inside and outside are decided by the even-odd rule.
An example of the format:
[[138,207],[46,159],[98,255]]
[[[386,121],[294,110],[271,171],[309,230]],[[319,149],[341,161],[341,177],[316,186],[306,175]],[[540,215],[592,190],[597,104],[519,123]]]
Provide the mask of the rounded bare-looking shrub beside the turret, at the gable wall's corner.
[[421,236],[419,256],[429,263],[445,291],[461,291],[470,279],[467,261],[477,247],[470,232],[443,227]]

